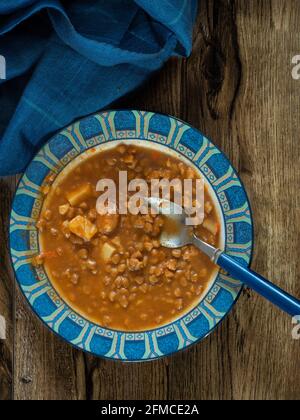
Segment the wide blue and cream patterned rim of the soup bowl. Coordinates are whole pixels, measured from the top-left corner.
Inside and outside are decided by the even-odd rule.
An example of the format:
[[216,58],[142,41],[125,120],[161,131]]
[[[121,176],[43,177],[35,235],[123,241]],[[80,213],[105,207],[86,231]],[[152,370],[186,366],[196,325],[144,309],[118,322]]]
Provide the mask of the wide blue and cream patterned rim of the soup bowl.
[[28,166],[15,195],[10,244],[17,281],[34,312],[52,331],[84,351],[123,361],[153,360],[206,337],[228,314],[242,288],[220,271],[205,299],[181,319],[147,332],[124,333],[78,315],[57,295],[43,267],[32,267],[32,258],[39,252],[35,223],[46,177],[59,174],[89,148],[133,139],[176,150],[200,169],[222,208],[227,253],[248,265],[253,243],[251,211],[235,170],[213,143],[186,123],[145,111],[109,111],[84,118],[55,135]]

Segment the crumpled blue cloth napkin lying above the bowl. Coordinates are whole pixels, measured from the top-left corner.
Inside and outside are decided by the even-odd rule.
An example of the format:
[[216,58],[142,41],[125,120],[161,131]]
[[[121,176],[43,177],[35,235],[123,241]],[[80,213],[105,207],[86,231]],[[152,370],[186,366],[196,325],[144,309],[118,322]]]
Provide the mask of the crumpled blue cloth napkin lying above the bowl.
[[0,175],[191,52],[197,0],[1,0]]

